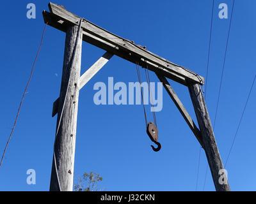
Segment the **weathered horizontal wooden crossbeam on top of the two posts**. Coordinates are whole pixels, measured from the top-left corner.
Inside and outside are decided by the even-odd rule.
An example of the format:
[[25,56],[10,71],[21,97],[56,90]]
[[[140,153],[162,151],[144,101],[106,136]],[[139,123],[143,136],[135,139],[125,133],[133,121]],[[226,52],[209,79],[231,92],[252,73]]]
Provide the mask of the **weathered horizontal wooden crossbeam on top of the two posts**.
[[[81,19],[57,4],[49,3],[49,10],[51,13],[43,12],[45,23],[61,31],[66,31],[69,25],[78,25]],[[83,20],[81,26],[83,28],[83,40],[92,45],[118,55],[127,61],[147,67],[151,71],[171,78],[180,84],[204,84],[204,77],[149,52],[133,41],[116,36],[88,20]]]

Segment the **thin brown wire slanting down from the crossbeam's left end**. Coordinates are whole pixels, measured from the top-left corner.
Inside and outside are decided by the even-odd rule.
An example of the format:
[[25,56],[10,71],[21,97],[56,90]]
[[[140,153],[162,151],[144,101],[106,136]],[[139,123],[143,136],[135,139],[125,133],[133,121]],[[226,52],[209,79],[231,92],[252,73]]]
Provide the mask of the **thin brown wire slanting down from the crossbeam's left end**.
[[9,146],[9,144],[10,144],[10,141],[12,139],[12,135],[13,135],[13,132],[15,130],[15,127],[16,127],[16,124],[17,124],[17,120],[19,118],[20,110],[21,110],[22,104],[24,102],[24,99],[25,99],[25,96],[26,96],[26,92],[28,91],[29,84],[30,84],[31,79],[33,77],[33,73],[34,73],[34,70],[35,70],[35,64],[36,64],[36,61],[38,59],[38,55],[40,54],[40,51],[41,51],[41,48],[42,48],[46,26],[47,26],[47,24],[45,24],[44,29],[43,29],[40,45],[38,47],[38,51],[36,52],[36,57],[35,57],[34,62],[32,64],[32,68],[31,68],[31,72],[30,72],[30,75],[29,75],[29,78],[28,78],[28,82],[26,84],[26,87],[25,87],[24,92],[22,94],[22,98],[20,100],[20,105],[19,105],[18,112],[17,112],[17,115],[16,115],[14,123],[13,123],[12,131],[11,131],[10,136],[9,136],[7,142],[6,142],[5,147],[4,147],[4,152],[3,152],[3,155],[2,155],[2,158],[1,158],[0,166],[3,164],[3,159],[4,159],[4,156],[6,154],[6,150],[7,150],[8,146]]

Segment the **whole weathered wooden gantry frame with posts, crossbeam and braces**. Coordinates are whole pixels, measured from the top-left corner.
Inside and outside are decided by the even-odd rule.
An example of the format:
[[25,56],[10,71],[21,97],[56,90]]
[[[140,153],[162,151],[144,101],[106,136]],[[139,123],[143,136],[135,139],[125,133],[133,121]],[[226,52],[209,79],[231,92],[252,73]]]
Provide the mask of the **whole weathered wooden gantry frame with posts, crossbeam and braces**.
[[[219,173],[224,167],[200,88],[200,85],[204,85],[204,77],[149,52],[147,48],[136,45],[134,41],[121,38],[84,18],[78,17],[65,10],[63,6],[49,3],[49,10],[50,12],[43,11],[45,23],[66,33],[60,98],[56,99],[52,109],[52,117],[58,113],[58,120],[50,190],[72,191],[79,90],[113,55],[117,55],[156,73],[205,150],[216,191],[230,191],[228,184],[220,184],[219,182]],[[82,40],[106,50],[106,53],[80,77]],[[167,78],[188,87],[199,128],[196,127]]]

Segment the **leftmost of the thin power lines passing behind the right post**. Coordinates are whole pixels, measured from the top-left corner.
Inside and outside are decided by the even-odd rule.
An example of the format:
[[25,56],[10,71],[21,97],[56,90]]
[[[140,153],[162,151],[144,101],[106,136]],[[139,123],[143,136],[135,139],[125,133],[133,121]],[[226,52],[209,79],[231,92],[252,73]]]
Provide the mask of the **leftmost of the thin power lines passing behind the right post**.
[[[215,0],[212,1],[212,16],[211,16],[211,29],[210,29],[210,38],[209,38],[209,46],[208,46],[208,59],[207,59],[207,69],[206,69],[206,78],[205,78],[205,92],[204,98],[206,100],[206,92],[207,92],[207,81],[208,81],[208,72],[209,72],[209,62],[210,62],[210,52],[211,52],[211,40],[212,40],[212,22],[213,22],[213,11],[214,11],[214,3]],[[199,158],[198,158],[198,168],[197,168],[197,176],[196,176],[196,190],[198,186],[198,177],[199,177],[199,167],[200,167],[200,156],[202,147],[199,147]],[[205,185],[205,184],[204,184]]]

